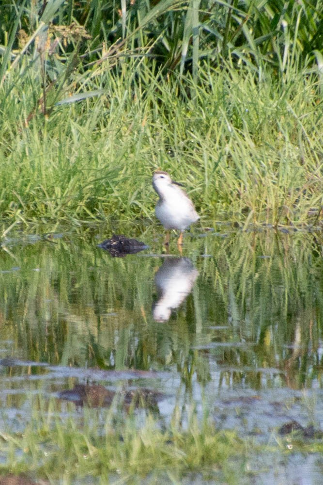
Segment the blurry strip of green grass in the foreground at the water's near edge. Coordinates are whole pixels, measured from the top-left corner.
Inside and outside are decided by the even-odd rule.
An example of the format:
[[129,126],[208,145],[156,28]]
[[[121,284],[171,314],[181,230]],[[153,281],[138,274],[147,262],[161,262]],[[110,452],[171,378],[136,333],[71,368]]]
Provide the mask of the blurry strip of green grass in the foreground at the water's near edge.
[[37,395],[28,399],[31,417],[23,432],[1,430],[0,477],[12,474],[66,485],[195,480],[237,485],[261,480],[271,458],[278,472],[282,460],[290,469],[288,460],[295,453],[322,453],[321,440],[297,433],[280,436],[273,430],[264,446],[250,436],[217,430],[206,407],[200,418],[190,407],[183,425],[178,406],[166,424],[151,414],[138,417],[115,406],[76,412],[73,404],[62,409],[57,400],[45,402]]

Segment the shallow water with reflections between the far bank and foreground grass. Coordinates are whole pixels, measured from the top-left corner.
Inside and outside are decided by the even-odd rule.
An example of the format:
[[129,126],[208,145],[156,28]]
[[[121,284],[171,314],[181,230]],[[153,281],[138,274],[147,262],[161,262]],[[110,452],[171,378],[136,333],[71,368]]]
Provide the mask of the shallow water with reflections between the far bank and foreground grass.
[[[206,401],[219,428],[260,443],[290,420],[323,429],[322,234],[195,229],[181,256],[146,229],[126,235],[149,247],[118,258],[97,247],[103,229],[2,243],[1,427],[23,429],[33,394],[99,383],[158,390],[165,420]],[[308,463],[292,483],[322,483],[322,459]]]

